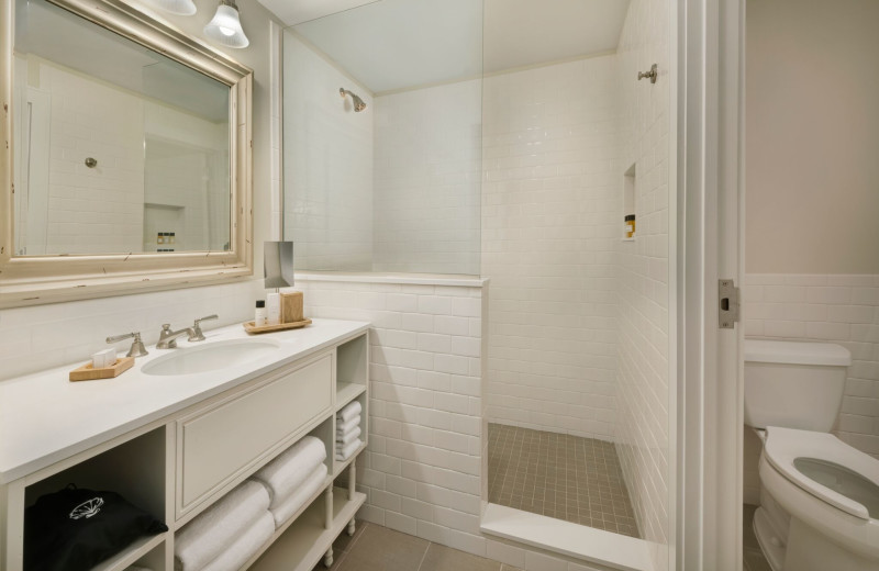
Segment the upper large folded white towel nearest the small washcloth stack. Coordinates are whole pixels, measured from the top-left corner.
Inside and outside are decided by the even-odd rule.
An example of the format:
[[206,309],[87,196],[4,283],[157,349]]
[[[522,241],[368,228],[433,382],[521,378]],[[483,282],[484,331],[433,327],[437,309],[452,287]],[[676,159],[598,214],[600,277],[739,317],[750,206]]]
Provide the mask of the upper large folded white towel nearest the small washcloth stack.
[[323,441],[307,436],[267,463],[253,479],[263,482],[268,489],[269,508],[274,510],[302,485],[325,459],[326,447]]

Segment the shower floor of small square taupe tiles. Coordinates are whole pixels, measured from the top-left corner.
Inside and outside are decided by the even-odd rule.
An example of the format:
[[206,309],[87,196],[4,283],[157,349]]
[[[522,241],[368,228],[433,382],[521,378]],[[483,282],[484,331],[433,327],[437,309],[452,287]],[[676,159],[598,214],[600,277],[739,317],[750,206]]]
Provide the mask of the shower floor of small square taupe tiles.
[[489,502],[641,537],[613,443],[488,425]]

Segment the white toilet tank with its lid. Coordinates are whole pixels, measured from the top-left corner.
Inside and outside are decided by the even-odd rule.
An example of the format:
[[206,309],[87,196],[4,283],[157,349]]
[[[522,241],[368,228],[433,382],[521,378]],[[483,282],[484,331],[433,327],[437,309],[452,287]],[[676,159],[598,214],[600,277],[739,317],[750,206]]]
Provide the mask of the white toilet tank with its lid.
[[849,365],[839,345],[745,339],[745,424],[828,433]]

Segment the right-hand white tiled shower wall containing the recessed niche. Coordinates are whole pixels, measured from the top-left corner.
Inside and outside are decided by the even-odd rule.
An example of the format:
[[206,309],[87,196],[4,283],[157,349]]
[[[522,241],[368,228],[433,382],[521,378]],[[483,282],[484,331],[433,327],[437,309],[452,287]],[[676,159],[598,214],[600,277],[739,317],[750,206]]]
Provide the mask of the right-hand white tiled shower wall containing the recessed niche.
[[[669,128],[671,2],[632,0],[623,25],[619,96],[623,171],[635,165],[635,242],[620,248],[616,443],[635,516],[657,570],[669,561]],[[657,64],[658,81],[637,72]],[[622,178],[622,177],[621,177]],[[622,181],[621,181],[622,186]]]

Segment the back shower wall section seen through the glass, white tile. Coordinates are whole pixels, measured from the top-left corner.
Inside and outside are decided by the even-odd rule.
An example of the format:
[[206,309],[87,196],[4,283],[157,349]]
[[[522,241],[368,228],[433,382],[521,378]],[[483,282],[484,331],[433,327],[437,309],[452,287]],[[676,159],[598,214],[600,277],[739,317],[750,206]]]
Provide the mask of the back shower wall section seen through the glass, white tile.
[[479,273],[482,80],[375,98],[375,271]]

